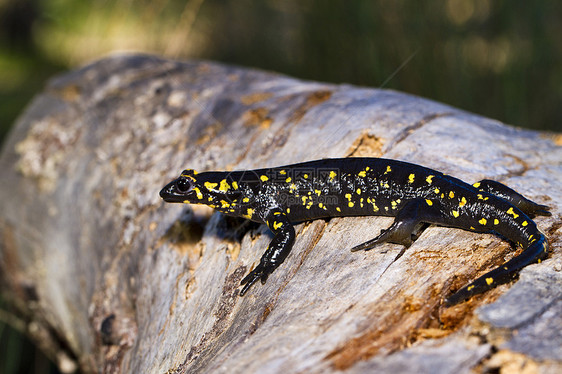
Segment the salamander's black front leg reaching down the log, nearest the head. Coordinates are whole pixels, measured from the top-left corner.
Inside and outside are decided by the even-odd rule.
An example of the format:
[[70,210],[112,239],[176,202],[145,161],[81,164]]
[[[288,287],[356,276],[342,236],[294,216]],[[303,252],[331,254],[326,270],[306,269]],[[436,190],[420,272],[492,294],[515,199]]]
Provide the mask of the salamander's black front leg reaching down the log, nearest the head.
[[258,266],[242,279],[241,284],[244,285],[244,287],[242,291],[240,291],[240,296],[244,296],[258,279],[264,284],[269,274],[273,273],[273,271],[285,261],[285,258],[287,258],[293,248],[293,243],[295,242],[295,228],[291,225],[283,212],[280,210],[272,210],[267,216],[266,223],[267,227],[273,231],[275,236],[269,243]]

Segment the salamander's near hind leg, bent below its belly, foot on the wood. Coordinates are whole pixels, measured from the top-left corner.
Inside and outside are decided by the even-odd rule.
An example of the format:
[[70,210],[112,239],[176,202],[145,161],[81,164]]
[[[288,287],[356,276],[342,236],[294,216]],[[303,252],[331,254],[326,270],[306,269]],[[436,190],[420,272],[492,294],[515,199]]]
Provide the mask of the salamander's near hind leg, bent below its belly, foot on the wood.
[[392,225],[376,237],[351,249],[352,252],[369,250],[380,243],[402,244],[406,248],[412,245],[413,236],[423,223],[439,223],[442,214],[437,201],[413,199],[398,212]]

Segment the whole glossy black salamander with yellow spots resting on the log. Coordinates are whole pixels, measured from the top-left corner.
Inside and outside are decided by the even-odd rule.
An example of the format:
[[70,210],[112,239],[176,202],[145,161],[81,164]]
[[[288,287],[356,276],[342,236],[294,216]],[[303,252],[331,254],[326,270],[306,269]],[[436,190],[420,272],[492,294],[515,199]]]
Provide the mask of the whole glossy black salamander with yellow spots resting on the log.
[[242,280],[244,295],[283,263],[295,241],[292,223],[326,217],[393,216],[380,235],[352,251],[384,242],[406,247],[423,224],[493,233],[523,248],[520,255],[461,288],[450,306],[515,278],[547,255],[547,240],[530,217],[550,215],[492,180],[469,185],[407,162],[383,158],[324,159],[234,172],[184,170],[160,196],[166,202],[205,204],[224,214],[265,223],[274,236],[260,263]]

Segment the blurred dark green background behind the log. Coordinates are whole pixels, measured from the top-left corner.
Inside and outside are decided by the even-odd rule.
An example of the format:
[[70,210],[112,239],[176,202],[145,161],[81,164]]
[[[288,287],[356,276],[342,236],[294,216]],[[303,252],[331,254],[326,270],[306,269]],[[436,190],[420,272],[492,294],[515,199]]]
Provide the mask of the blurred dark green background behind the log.
[[[114,51],[382,86],[562,131],[561,35],[555,0],[0,0],[0,141],[49,77]],[[0,344],[0,372],[54,372],[5,325]]]

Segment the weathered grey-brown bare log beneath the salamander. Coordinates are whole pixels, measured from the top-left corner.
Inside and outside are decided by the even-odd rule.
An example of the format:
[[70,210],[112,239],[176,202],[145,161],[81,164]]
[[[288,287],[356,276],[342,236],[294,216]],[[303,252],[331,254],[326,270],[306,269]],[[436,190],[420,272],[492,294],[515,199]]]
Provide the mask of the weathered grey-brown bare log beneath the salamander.
[[[388,90],[107,58],[52,80],[4,145],[2,292],[67,371],[560,372],[556,143]],[[391,219],[318,220],[298,225],[285,263],[242,298],[267,229],[158,197],[186,167],[344,156],[504,182],[552,207],[536,220],[551,255],[447,309],[452,289],[513,256],[506,242],[430,227],[396,259],[397,245],[349,251]]]

